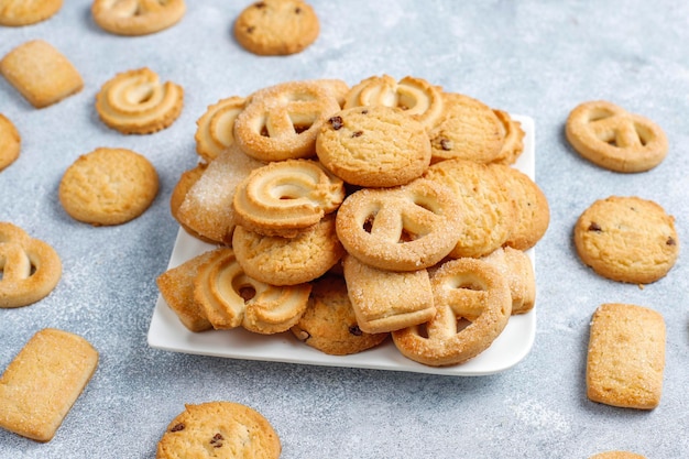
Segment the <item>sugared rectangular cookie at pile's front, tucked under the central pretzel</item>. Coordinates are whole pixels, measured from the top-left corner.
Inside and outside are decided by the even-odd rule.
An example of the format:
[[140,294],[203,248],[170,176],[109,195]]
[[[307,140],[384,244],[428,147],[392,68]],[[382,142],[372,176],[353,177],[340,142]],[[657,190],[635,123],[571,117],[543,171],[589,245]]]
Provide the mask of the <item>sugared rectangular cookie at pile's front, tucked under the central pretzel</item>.
[[344,281],[357,324],[362,331],[383,334],[433,318],[430,281],[426,270],[379,270],[344,255]]

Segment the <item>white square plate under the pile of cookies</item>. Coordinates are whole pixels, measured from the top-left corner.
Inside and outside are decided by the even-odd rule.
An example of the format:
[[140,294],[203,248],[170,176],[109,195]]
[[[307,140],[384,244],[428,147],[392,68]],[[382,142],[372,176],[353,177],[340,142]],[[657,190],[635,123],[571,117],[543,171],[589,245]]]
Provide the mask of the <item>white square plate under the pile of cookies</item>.
[[[526,133],[524,153],[515,167],[534,178],[534,120],[523,116],[512,117],[522,123],[522,129]],[[214,248],[179,229],[168,269]],[[535,266],[534,250],[529,250],[528,254]],[[497,373],[518,363],[531,351],[535,335],[534,308],[527,314],[512,316],[504,331],[491,347],[475,358],[459,365],[434,368],[406,359],[397,351],[391,339],[360,353],[329,356],[298,341],[289,331],[272,336],[252,334],[242,328],[192,332],[182,325],[175,313],[158,295],[149,328],[149,346],[174,352],[231,359],[478,376]]]

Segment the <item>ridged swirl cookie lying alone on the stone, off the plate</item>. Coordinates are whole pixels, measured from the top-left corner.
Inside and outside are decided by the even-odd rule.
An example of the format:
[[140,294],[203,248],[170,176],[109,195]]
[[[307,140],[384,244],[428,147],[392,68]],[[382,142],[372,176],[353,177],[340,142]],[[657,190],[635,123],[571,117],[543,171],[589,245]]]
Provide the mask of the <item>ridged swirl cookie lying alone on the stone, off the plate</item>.
[[161,83],[150,68],[128,70],[107,81],[96,96],[101,121],[123,134],[150,134],[168,128],[182,112],[184,89]]

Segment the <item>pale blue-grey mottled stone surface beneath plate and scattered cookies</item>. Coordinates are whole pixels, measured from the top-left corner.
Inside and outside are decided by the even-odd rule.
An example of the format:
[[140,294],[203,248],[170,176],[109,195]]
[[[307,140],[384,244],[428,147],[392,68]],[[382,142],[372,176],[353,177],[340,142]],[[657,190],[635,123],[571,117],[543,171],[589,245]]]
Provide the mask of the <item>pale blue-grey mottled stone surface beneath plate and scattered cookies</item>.
[[[588,458],[626,449],[689,456],[689,266],[686,251],[661,281],[639,288],[601,278],[578,260],[571,231],[593,200],[638,195],[677,219],[689,243],[689,3],[681,1],[321,1],[318,41],[289,57],[259,57],[233,41],[248,1],[189,0],[164,32],[122,37],[100,30],[89,0],[67,0],[51,20],[0,28],[0,55],[44,39],[80,70],[84,90],[43,110],[0,78],[0,112],[22,138],[0,173],[0,220],[61,254],[64,275],[42,302],[0,309],[0,369],[40,328],[94,343],[97,373],[50,444],[0,431],[2,458],[152,458],[184,403],[230,400],[275,426],[284,458]],[[116,73],[149,66],[185,88],[167,130],[125,136],[100,123],[96,92]],[[536,123],[536,179],[551,222],[536,251],[537,334],[532,352],[503,373],[448,378],[196,357],[151,349],[154,283],[177,226],[168,199],[195,165],[195,121],[222,97],[284,80],[413,75]],[[657,121],[670,151],[655,170],[623,175],[580,159],[564,138],[579,102],[606,99]],[[161,192],[139,219],[91,228],[57,200],[62,174],[98,146],[147,156]],[[590,316],[604,302],[653,307],[667,323],[667,365],[653,412],[586,397]]]

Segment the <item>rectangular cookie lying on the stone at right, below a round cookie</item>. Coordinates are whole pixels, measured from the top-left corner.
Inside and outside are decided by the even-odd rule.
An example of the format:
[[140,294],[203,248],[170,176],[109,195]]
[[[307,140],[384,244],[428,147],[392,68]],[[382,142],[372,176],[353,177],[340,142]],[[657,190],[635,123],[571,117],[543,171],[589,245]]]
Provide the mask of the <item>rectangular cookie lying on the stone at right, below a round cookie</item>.
[[587,395],[593,402],[653,409],[665,370],[665,320],[652,309],[603,304],[591,321]]

